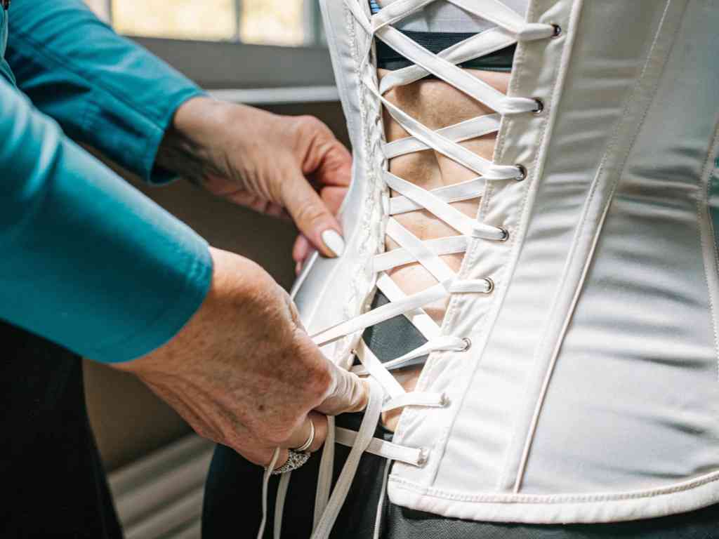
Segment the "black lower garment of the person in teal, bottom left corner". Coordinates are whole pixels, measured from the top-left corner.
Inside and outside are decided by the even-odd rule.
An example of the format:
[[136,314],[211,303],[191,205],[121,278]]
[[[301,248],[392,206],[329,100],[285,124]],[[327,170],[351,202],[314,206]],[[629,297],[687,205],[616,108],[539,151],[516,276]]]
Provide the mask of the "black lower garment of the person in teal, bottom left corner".
[[0,537],[119,539],[81,359],[0,322]]

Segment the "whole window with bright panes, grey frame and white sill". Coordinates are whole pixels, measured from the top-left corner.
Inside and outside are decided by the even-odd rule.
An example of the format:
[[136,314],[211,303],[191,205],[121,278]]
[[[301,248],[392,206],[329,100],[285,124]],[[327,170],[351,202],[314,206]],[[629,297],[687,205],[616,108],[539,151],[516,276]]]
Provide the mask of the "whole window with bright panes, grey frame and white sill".
[[[319,0],[85,0],[218,98],[336,101]],[[280,46],[269,46],[280,45]]]

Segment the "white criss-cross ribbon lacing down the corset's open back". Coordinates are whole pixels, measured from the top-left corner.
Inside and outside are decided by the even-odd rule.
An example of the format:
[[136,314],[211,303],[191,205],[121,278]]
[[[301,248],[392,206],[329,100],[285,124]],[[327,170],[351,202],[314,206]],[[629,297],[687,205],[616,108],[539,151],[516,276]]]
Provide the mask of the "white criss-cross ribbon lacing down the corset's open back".
[[[347,497],[362,453],[368,451],[383,456],[388,461],[401,461],[413,466],[423,466],[429,459],[429,450],[426,448],[400,446],[374,438],[375,426],[383,411],[403,406],[445,407],[449,405],[449,401],[443,394],[406,392],[390,374],[390,370],[403,367],[408,361],[432,351],[463,351],[470,345],[467,338],[441,335],[439,326],[427,315],[423,306],[453,294],[490,294],[494,290],[494,282],[490,276],[478,280],[460,280],[454,270],[440,256],[466,252],[471,239],[505,241],[510,232],[500,225],[482,223],[465,216],[450,206],[450,203],[481,197],[487,182],[522,181],[526,178],[527,170],[521,164],[496,165],[490,160],[475,155],[458,143],[497,132],[502,116],[539,114],[543,111],[544,104],[538,98],[506,96],[458,68],[457,64],[482,57],[516,42],[548,39],[557,36],[560,32],[559,27],[554,24],[525,22],[520,14],[498,0],[442,0],[449,1],[477,17],[493,22],[497,27],[476,34],[435,55],[406,37],[391,24],[422,9],[423,6],[431,4],[432,1],[438,0],[398,0],[383,7],[374,15],[370,14],[367,9],[366,0],[342,1],[352,13],[359,27],[370,36],[359,68],[362,84],[375,98],[381,101],[390,116],[411,135],[395,142],[380,144],[377,149],[383,152],[385,162],[400,155],[432,149],[474,171],[477,178],[455,185],[426,190],[399,178],[388,170],[381,171],[385,185],[398,193],[397,196],[390,198],[385,233],[399,245],[399,248],[377,254],[373,260],[373,269],[377,273],[377,289],[387,296],[390,303],[327,328],[313,336],[313,339],[317,344],[327,344],[344,336],[356,334],[396,315],[405,315],[425,336],[427,342],[418,349],[383,364],[362,338],[359,338],[355,353],[361,362],[361,367],[354,367],[353,370],[358,374],[369,374],[372,388],[370,402],[365,410],[365,417],[359,432],[334,428],[334,421],[330,418],[329,432],[320,464],[312,539],[329,537],[339,510]],[[386,75],[381,82],[378,82],[376,69],[372,65],[371,38],[382,40],[408,58],[414,65],[393,71]],[[430,73],[466,93],[467,96],[483,103],[495,113],[478,116],[435,131],[413,119],[384,97],[385,93],[392,88],[413,83]],[[381,121],[381,118],[377,121]],[[459,232],[460,235],[422,241],[393,217],[400,213],[421,209],[429,211]],[[416,294],[405,295],[390,279],[387,271],[411,262],[421,264],[437,280],[438,284]],[[335,443],[352,446],[352,449],[339,479],[331,491]],[[268,479],[269,474],[265,474],[265,492]],[[275,505],[275,539],[280,538],[283,505],[289,480],[289,473],[283,474],[280,479]],[[378,529],[375,530],[375,537]],[[262,530],[260,530],[261,536]]]

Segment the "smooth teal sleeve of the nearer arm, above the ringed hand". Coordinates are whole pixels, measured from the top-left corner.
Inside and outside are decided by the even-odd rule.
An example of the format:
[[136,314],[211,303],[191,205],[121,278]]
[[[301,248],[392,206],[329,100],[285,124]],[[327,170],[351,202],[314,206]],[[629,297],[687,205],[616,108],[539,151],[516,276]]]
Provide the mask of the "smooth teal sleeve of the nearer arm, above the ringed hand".
[[174,336],[209,288],[206,242],[3,78],[0,141],[0,318],[98,361]]

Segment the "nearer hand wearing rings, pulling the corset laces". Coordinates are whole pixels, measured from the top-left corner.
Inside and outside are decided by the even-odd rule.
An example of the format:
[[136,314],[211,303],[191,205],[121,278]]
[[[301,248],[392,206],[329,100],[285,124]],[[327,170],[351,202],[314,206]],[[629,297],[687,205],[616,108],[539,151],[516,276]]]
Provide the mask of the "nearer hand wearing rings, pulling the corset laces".
[[205,438],[249,461],[270,463],[308,439],[316,451],[326,416],[362,410],[367,387],[321,353],[287,293],[254,262],[212,249],[214,272],[201,308],[167,344],[134,361],[132,372]]

